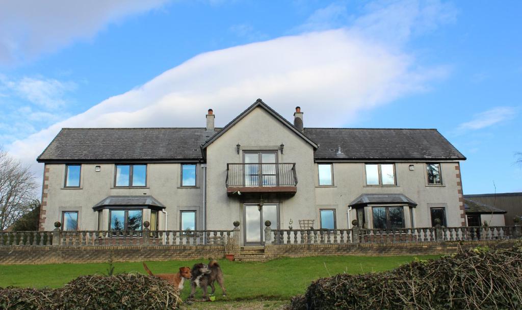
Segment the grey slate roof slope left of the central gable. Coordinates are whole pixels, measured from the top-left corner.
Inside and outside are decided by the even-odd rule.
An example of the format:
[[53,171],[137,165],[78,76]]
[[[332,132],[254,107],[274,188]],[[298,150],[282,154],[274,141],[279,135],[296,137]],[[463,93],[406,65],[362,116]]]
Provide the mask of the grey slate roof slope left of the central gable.
[[199,146],[214,134],[205,128],[63,128],[38,161],[199,160]]

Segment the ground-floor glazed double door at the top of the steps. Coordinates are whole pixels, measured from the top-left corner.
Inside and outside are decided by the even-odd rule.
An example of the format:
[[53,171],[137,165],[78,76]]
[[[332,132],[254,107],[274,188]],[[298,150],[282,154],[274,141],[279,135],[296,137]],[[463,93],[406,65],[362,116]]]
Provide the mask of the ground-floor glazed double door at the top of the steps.
[[262,245],[265,243],[265,221],[270,221],[270,228],[277,229],[279,227],[279,205],[264,204],[244,205],[244,244],[245,245]]

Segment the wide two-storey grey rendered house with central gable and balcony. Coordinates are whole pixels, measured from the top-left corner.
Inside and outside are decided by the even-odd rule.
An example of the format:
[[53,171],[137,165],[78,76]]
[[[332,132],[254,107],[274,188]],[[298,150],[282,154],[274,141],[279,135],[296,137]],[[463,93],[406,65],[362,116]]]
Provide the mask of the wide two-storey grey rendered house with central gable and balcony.
[[395,229],[466,224],[459,161],[436,129],[307,128],[258,99],[222,128],[63,128],[41,230]]

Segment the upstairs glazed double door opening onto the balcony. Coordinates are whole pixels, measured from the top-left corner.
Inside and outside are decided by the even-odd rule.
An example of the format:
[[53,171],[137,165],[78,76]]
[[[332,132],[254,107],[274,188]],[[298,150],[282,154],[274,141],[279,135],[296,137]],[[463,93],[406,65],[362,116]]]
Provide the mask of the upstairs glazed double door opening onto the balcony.
[[245,186],[277,186],[277,152],[244,152]]

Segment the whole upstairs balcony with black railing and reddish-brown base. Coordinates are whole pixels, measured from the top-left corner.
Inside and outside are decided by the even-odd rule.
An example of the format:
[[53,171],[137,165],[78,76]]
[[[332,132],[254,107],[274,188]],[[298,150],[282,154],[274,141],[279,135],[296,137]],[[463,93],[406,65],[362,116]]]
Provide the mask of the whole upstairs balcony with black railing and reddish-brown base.
[[228,195],[282,193],[295,195],[295,163],[228,163]]

